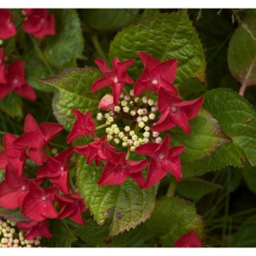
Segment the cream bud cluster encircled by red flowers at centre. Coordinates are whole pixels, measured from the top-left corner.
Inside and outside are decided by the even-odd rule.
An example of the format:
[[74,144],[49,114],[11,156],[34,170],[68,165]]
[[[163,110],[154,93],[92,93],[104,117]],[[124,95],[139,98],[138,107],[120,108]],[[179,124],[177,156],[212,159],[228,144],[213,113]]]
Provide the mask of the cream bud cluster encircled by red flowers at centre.
[[[114,109],[115,113],[109,111],[97,115],[97,119],[103,120],[107,126],[105,132],[108,141],[120,143],[123,147],[129,147],[131,151],[150,141],[157,143],[162,141],[159,133],[151,129],[156,119],[157,101],[146,96],[135,98],[134,91],[131,90],[129,94],[121,93],[119,105]],[[133,124],[119,127],[116,123],[118,119],[131,119]]]

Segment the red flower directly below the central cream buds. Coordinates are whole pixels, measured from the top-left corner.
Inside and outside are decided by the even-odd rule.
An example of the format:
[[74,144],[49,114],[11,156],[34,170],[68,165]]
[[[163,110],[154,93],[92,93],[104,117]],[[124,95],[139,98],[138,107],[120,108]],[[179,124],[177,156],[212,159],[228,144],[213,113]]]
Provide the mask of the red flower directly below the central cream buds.
[[140,188],[143,187],[145,180],[141,171],[148,165],[147,160],[131,161],[126,160],[126,153],[116,153],[107,151],[108,162],[101,174],[99,185],[119,185],[122,184],[127,176],[134,179]]

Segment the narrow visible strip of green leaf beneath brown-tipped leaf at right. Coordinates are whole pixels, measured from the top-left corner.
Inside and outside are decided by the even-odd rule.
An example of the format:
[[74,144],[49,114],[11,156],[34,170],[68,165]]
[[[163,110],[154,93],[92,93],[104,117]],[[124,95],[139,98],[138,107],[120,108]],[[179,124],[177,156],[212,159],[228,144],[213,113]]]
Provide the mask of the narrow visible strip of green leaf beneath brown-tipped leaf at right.
[[193,163],[182,165],[182,176],[191,177],[217,171],[226,166],[242,167],[241,159],[245,156],[242,149],[233,143],[219,147],[212,155]]

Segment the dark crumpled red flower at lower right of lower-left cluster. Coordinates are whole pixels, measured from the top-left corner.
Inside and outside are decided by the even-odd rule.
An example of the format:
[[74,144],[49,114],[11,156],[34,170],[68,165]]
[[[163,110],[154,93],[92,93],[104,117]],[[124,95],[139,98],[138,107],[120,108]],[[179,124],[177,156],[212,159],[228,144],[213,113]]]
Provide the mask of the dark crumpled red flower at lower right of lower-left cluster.
[[82,211],[86,210],[83,199],[79,193],[73,194],[56,194],[55,200],[62,210],[59,212],[58,218],[64,219],[68,217],[70,220],[83,224]]

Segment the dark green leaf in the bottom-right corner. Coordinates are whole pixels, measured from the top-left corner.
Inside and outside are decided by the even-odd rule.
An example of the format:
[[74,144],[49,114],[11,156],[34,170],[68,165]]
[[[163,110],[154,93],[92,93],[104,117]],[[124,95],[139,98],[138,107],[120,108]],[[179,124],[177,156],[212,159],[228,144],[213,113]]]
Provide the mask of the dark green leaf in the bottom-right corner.
[[256,216],[248,219],[236,232],[229,247],[256,247]]

